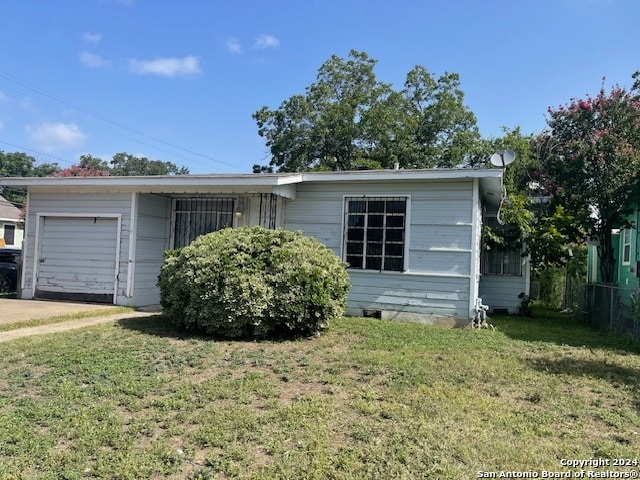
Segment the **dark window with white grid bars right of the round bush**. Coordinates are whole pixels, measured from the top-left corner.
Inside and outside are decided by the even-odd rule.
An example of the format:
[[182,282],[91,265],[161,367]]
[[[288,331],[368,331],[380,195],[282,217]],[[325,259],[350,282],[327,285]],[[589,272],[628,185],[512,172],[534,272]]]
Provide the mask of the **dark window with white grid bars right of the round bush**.
[[404,270],[406,197],[345,199],[345,261],[350,268]]

